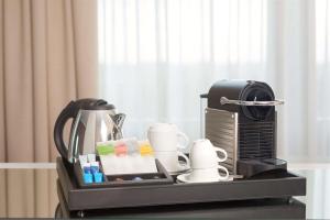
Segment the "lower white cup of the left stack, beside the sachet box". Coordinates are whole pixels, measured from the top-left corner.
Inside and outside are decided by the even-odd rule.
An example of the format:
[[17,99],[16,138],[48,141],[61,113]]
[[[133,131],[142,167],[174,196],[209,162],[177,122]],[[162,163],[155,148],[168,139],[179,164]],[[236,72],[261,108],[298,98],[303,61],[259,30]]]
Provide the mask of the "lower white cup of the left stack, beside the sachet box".
[[[178,156],[182,156],[185,160],[186,165],[179,164]],[[170,173],[184,170],[190,167],[189,158],[183,152],[179,151],[155,152],[155,157],[160,160],[165,169]]]

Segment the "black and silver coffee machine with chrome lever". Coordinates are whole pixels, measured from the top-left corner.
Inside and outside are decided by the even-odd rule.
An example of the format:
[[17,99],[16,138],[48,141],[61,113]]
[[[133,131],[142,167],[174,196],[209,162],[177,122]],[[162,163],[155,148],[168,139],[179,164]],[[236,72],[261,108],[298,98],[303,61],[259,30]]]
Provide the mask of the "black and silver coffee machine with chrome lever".
[[205,135],[213,145],[228,152],[222,162],[230,174],[252,177],[286,169],[276,157],[276,111],[272,88],[262,81],[219,80],[207,95]]

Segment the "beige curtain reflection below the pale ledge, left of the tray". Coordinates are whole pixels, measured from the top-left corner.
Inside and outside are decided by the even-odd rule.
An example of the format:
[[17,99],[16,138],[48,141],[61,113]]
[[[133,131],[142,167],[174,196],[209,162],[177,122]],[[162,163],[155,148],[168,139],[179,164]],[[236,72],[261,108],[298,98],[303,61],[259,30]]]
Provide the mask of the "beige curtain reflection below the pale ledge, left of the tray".
[[0,169],[0,218],[52,218],[58,204],[55,169]]

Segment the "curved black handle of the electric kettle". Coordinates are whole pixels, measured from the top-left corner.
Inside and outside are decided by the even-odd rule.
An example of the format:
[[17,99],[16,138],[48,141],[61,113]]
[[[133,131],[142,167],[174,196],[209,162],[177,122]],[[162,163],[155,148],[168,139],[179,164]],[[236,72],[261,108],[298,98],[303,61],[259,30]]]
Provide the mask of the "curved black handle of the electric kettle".
[[64,125],[70,118],[77,114],[76,102],[70,101],[59,113],[54,127],[54,142],[61,156],[68,160],[68,148],[63,140]]

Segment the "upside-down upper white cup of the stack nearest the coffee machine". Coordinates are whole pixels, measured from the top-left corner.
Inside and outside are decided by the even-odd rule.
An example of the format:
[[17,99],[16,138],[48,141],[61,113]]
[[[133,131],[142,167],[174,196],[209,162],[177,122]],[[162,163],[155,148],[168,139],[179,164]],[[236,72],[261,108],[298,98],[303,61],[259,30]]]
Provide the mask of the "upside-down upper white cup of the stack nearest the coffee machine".
[[[221,152],[224,156],[219,158],[217,152]],[[191,168],[201,169],[217,167],[218,163],[224,162],[228,155],[223,148],[213,146],[208,139],[200,139],[193,143],[189,157]]]

